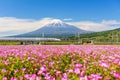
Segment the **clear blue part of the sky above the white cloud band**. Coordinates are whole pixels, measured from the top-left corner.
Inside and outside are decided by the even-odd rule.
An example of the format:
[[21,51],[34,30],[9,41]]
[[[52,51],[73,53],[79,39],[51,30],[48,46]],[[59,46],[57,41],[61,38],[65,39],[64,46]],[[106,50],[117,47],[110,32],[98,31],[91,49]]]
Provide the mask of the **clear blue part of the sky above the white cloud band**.
[[120,0],[0,0],[0,17],[120,20]]

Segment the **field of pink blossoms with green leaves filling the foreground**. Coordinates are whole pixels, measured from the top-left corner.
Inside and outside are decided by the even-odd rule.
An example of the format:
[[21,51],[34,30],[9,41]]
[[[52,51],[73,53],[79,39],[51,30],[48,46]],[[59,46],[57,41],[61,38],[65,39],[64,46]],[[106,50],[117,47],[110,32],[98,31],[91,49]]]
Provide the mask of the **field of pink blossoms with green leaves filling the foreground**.
[[0,46],[0,80],[120,80],[120,46]]

